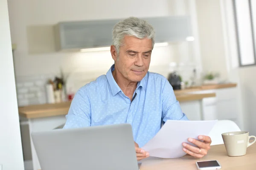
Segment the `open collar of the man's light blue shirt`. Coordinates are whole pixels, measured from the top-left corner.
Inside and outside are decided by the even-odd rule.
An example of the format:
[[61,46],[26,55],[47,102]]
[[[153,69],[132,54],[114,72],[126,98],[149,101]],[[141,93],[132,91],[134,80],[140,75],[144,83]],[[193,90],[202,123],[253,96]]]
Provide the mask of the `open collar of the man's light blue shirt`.
[[[113,96],[115,96],[119,91],[122,91],[121,88],[117,85],[113,77],[112,71],[114,71],[114,69],[115,69],[115,65],[113,64],[106,74]],[[148,80],[148,73],[145,75],[145,77],[143,77],[143,79],[140,82],[138,82],[136,90],[140,86],[144,88],[144,90],[146,90],[147,80]]]

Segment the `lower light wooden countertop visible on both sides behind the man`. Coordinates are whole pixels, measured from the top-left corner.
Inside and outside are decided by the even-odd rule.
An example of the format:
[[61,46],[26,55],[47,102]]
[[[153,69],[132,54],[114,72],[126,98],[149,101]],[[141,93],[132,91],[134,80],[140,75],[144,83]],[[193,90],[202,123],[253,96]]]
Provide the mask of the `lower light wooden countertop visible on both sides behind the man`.
[[[178,94],[176,98],[179,102],[191,100],[201,100],[206,97],[215,97],[215,93],[208,94]],[[56,104],[30,105],[19,108],[19,115],[28,119],[66,115],[71,102]]]

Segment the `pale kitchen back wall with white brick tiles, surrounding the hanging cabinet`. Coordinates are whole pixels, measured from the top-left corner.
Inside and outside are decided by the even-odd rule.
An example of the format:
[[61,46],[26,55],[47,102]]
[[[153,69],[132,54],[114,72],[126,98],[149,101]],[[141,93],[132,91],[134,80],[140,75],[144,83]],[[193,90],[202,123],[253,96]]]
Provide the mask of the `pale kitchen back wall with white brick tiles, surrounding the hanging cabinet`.
[[[44,84],[47,79],[59,75],[61,69],[65,74],[70,74],[68,85],[75,86],[76,91],[85,83],[105,74],[113,64],[109,51],[56,52],[52,29],[54,24],[60,21],[129,16],[184,15],[191,13],[191,2],[193,1],[9,0],[12,43],[17,44],[14,64],[18,104],[45,103]],[[193,32],[196,32],[195,28],[193,29]],[[184,79],[189,79],[192,76],[192,69],[197,68],[200,71],[201,68],[201,61],[198,59],[200,56],[196,52],[197,41],[196,38],[195,42],[178,42],[154,48],[150,71],[167,77],[168,72],[175,69],[169,67],[170,62],[183,62],[179,71]]]

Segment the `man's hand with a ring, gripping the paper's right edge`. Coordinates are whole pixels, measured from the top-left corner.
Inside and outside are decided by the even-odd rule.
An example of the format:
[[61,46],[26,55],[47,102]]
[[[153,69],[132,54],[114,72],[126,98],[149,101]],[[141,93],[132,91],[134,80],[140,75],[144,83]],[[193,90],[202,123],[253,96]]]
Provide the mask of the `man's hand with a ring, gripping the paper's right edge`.
[[[205,155],[207,155],[208,150],[210,149],[210,144],[212,143],[212,140],[209,136],[198,136],[198,139],[192,139],[189,138],[188,141],[195,144],[197,147],[194,147],[190,144],[183,143],[183,150],[189,155],[194,156],[195,158],[202,158]],[[203,141],[203,142],[202,142]]]

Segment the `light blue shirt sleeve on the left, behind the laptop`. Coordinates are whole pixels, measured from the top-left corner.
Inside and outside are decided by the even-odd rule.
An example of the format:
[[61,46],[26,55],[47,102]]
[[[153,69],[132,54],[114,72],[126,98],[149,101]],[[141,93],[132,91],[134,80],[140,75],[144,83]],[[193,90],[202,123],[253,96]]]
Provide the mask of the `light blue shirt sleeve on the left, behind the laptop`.
[[88,127],[91,125],[90,100],[82,91],[77,91],[66,115],[63,129]]

